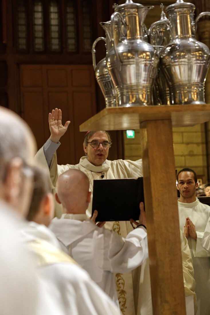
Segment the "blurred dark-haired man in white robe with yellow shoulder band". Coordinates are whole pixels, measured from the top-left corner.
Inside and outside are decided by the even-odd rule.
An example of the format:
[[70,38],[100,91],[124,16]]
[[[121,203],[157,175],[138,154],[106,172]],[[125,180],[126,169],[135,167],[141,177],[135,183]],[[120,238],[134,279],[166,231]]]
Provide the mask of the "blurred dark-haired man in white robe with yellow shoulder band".
[[34,179],[27,216],[30,222],[20,230],[20,235],[34,256],[37,272],[44,284],[43,302],[50,302],[40,314],[120,315],[108,295],[60,249],[57,238],[47,227],[54,216],[51,185],[43,169],[34,168]]

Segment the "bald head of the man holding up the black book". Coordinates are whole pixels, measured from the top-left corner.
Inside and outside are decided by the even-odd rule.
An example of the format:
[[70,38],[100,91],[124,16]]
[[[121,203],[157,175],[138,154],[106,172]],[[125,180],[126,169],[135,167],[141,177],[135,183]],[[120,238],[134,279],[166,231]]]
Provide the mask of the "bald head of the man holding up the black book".
[[85,213],[90,202],[89,180],[80,170],[70,169],[57,179],[56,200],[66,213]]

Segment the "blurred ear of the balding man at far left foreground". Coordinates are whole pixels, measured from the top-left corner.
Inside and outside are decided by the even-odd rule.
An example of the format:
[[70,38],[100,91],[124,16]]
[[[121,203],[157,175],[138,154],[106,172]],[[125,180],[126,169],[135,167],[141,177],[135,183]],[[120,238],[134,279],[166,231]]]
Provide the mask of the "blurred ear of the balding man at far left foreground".
[[4,180],[5,200],[12,206],[18,205],[22,183],[22,160],[20,157],[14,157],[7,166],[7,174]]

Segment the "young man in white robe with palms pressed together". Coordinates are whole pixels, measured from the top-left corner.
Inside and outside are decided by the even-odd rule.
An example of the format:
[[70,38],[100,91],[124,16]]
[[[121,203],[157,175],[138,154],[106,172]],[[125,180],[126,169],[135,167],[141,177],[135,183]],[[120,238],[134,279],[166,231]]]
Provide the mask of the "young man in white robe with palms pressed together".
[[198,187],[197,175],[192,169],[182,169],[177,175],[177,189],[180,229],[188,239],[193,260],[195,293],[197,295],[196,315],[210,314],[210,258],[201,241],[210,217],[210,207],[195,197]]

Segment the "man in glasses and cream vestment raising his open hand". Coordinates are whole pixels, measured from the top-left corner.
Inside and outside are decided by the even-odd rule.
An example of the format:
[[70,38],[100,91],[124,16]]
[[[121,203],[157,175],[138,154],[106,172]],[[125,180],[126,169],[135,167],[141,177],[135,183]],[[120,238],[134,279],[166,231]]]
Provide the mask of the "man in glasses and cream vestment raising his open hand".
[[[65,134],[70,121],[62,125],[61,110],[55,108],[49,113],[49,128],[50,138],[44,146],[37,152],[36,159],[46,169],[49,170],[50,179],[52,181],[52,189],[56,192],[56,181],[60,174],[69,169],[79,169],[84,172],[90,182],[90,191],[93,191],[93,180],[106,180],[114,178],[131,178],[143,176],[142,159],[137,161],[131,160],[115,160],[107,159],[109,148],[111,146],[110,135],[106,131],[90,131],[86,134],[83,143],[85,156],[81,157],[76,165],[57,165],[56,150],[60,146],[60,138]],[[88,205],[87,215],[91,215],[92,209],[92,195],[91,201]],[[60,218],[62,215],[62,208],[56,205],[55,215]],[[120,236],[126,237],[131,232],[132,227],[129,221],[115,221],[107,222],[106,228],[117,232]],[[138,270],[116,275],[116,285],[119,291],[119,300],[121,304],[121,311],[124,315],[135,315],[135,307],[137,309],[138,296],[135,299],[133,292],[137,292],[139,286]]]

